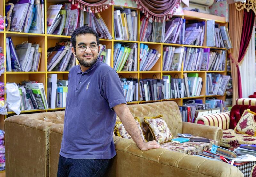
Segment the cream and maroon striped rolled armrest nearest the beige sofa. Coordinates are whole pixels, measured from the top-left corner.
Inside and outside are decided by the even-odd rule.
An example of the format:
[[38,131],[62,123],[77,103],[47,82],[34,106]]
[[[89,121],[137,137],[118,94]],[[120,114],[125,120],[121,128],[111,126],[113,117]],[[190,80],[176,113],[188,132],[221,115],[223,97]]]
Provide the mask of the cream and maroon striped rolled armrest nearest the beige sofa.
[[196,118],[196,123],[198,121],[199,122],[203,121],[204,125],[220,127],[221,129],[226,130],[229,128],[229,122],[230,122],[229,116],[230,116],[230,112],[201,115]]

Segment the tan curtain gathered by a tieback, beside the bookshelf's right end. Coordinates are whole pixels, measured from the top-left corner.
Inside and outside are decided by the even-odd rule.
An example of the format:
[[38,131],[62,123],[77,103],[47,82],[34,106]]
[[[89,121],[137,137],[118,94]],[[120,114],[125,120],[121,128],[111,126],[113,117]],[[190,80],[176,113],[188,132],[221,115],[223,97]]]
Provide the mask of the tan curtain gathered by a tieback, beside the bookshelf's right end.
[[235,4],[229,4],[229,34],[233,48],[230,49],[230,65],[231,65],[231,76],[232,76],[232,87],[233,87],[233,105],[236,103],[238,98],[238,80],[237,80],[237,67],[238,57],[240,51],[240,40],[242,34],[243,24],[243,11],[237,11]]

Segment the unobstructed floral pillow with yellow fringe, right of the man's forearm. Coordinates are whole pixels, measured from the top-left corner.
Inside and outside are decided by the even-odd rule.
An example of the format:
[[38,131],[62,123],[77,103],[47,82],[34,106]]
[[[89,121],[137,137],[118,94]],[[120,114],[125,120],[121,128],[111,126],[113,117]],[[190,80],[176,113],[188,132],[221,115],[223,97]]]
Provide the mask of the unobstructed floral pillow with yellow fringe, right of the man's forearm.
[[172,139],[171,131],[162,118],[163,115],[158,115],[156,117],[144,117],[144,122],[148,125],[154,139],[160,144]]

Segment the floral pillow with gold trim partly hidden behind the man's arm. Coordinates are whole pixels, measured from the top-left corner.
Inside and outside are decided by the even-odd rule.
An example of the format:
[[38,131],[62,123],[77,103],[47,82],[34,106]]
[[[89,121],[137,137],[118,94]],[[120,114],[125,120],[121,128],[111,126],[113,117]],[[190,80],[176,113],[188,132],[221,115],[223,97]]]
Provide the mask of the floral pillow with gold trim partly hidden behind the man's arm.
[[[143,141],[147,142],[147,140],[145,139],[145,136],[142,132],[139,118],[135,117],[134,119],[139,127],[140,135],[141,135]],[[115,131],[116,131],[117,136],[122,137],[122,138],[131,139],[131,136],[129,135],[129,133],[124,129],[124,125],[122,124],[122,122],[116,122]]]

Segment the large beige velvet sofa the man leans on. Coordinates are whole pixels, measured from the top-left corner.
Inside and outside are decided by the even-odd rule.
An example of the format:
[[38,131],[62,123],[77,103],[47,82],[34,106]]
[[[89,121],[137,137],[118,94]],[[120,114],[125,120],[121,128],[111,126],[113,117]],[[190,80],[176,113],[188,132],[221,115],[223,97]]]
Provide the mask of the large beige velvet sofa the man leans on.
[[[191,133],[218,142],[222,136],[222,130],[218,127],[182,122],[178,105],[173,101],[129,105],[129,109],[141,121],[143,117],[162,114],[174,136],[177,133]],[[6,176],[55,177],[63,119],[64,111],[7,118]],[[143,127],[148,135],[147,139],[150,139],[147,127]],[[114,142],[117,156],[113,159],[107,176],[243,176],[238,168],[227,163],[164,148],[141,151],[132,140],[117,136],[114,136]],[[20,151],[17,152],[17,149]]]

